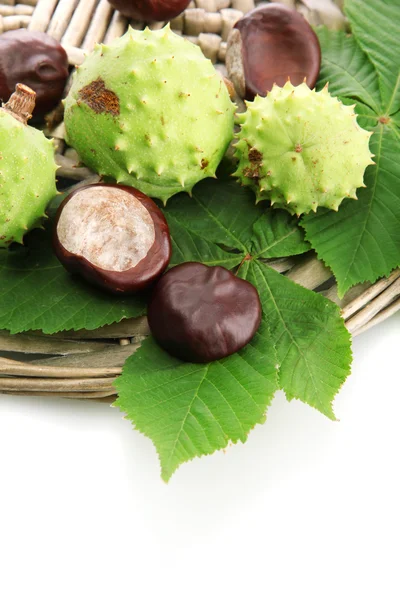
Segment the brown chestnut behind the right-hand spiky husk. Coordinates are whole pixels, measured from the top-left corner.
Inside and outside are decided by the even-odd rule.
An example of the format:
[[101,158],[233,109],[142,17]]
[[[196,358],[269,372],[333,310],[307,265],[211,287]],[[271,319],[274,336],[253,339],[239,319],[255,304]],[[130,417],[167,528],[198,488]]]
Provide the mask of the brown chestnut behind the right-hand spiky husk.
[[241,98],[266,96],[274,83],[316,84],[321,49],[305,18],[282,4],[262,5],[237,21],[226,50],[228,75]]

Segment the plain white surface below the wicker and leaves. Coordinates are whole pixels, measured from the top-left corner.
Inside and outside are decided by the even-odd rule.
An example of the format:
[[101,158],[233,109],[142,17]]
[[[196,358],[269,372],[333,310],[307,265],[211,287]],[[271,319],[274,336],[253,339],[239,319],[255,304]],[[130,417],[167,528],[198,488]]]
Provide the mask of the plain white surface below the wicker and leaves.
[[0,396],[1,600],[399,600],[399,342],[356,338],[340,422],[279,394],[168,485],[116,409]]

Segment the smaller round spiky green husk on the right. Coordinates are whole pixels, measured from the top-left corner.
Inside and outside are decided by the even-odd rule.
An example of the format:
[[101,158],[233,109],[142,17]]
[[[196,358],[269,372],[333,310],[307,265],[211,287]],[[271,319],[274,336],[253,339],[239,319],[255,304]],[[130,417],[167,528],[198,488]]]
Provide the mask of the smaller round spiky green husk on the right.
[[370,132],[353,106],[305,83],[274,86],[265,98],[247,102],[239,117],[235,175],[256,193],[292,214],[338,210],[343,198],[357,199],[364,171],[373,164]]

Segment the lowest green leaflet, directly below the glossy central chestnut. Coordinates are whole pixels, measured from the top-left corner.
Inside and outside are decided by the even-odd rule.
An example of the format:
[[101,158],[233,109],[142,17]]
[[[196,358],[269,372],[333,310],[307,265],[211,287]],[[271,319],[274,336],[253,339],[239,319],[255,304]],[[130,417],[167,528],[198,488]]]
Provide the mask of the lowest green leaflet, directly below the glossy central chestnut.
[[206,365],[174,359],[149,338],[125,363],[116,388],[115,405],[151,438],[168,481],[183,462],[245,442],[265,421],[277,389],[268,328],[262,324],[246,348]]

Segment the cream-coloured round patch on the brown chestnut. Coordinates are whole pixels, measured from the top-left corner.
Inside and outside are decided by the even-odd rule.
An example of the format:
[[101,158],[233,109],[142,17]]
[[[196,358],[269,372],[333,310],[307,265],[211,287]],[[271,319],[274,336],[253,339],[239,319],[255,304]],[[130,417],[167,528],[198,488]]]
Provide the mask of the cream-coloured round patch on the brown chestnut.
[[96,186],[77,192],[64,206],[58,239],[68,252],[107,271],[127,271],[155,240],[149,211],[125,190]]

